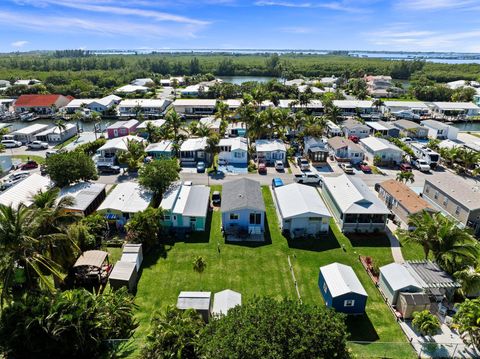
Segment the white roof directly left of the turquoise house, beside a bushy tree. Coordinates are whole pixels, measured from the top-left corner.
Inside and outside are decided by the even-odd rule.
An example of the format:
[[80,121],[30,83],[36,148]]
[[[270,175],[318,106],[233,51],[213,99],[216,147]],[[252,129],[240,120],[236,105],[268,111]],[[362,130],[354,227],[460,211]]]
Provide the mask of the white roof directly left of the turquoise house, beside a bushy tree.
[[122,213],[136,213],[147,209],[153,194],[143,189],[137,182],[123,182],[110,192],[98,211],[116,210]]

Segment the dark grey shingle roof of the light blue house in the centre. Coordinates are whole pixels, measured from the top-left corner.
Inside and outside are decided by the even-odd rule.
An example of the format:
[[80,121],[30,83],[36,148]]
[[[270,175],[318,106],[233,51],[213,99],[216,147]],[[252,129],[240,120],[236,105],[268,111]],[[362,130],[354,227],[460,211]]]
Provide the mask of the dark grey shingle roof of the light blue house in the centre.
[[265,212],[260,182],[241,178],[225,183],[222,190],[222,212],[247,208]]

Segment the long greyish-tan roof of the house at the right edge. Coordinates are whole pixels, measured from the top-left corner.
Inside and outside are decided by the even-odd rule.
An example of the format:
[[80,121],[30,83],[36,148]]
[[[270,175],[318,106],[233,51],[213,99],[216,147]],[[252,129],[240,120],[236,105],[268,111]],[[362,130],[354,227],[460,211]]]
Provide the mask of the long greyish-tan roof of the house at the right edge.
[[425,186],[427,184],[438,188],[470,211],[480,208],[480,181],[474,178],[459,176],[449,171],[436,171],[432,178],[425,179]]

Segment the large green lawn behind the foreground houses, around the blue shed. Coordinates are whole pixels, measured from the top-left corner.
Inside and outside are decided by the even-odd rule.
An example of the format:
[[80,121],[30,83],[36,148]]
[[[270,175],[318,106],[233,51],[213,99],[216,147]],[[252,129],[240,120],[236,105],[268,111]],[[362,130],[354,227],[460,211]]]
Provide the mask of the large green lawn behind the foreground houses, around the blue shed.
[[[221,187],[213,186],[213,190]],[[363,254],[372,256],[379,265],[390,263],[388,240],[383,236],[348,239],[332,223],[332,234],[328,238],[289,242],[278,227],[270,189],[263,187],[262,191],[267,209],[266,237],[271,238],[264,244],[225,244],[220,232],[220,212],[214,211],[206,232],[210,233],[209,238],[196,234],[145,256],[136,295],[140,323],[135,340],[137,353],[148,332],[152,313],[175,305],[182,290],[217,292],[229,288],[242,293],[243,301],[255,296],[297,298],[288,268],[290,256],[302,300],[306,303],[323,305],[317,284],[320,266],[338,261],[354,268],[369,299],[367,315],[347,321],[350,340],[376,342],[352,343],[351,348],[358,357],[388,357],[393,352],[395,358],[413,358],[413,350],[358,260]],[[196,256],[204,257],[207,262],[203,274],[193,271]]]

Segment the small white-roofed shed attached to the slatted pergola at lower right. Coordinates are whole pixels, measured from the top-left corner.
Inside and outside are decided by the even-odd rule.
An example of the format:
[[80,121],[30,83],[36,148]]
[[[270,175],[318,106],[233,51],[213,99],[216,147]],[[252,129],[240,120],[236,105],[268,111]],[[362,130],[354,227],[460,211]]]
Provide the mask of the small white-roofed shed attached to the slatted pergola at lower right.
[[378,286],[391,305],[397,303],[400,292],[423,292],[422,287],[407,268],[399,263],[390,263],[380,267]]

